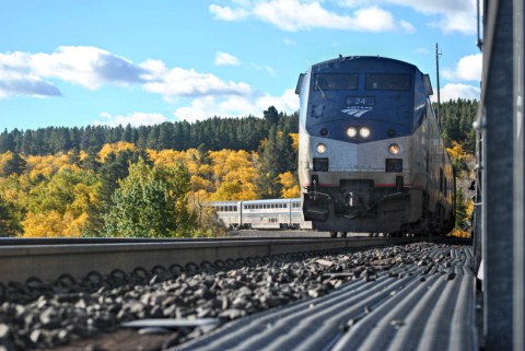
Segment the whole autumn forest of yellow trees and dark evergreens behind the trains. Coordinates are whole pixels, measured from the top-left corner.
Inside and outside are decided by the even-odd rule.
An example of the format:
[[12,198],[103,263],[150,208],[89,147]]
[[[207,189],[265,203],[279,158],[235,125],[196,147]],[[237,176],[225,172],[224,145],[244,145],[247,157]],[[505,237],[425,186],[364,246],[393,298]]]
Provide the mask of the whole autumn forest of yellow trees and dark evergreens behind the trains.
[[[477,105],[441,105],[443,138],[467,177]],[[4,130],[0,236],[215,235],[207,201],[300,195],[298,127],[296,113],[270,106],[264,118]]]

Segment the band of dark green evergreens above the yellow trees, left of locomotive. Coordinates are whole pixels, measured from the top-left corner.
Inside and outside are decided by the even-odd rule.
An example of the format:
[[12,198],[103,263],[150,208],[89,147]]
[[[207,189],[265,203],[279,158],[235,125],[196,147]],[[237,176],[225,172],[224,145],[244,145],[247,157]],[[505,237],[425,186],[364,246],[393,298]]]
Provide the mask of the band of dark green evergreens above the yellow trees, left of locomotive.
[[[272,125],[298,132],[298,114],[279,113],[273,106],[264,112],[265,118],[213,117],[202,121],[163,122],[155,126],[131,127],[88,126],[47,127],[36,130],[7,129],[0,133],[0,153],[49,155],[69,151],[97,152],[104,144],[130,142],[139,149],[151,150],[246,150],[256,151],[260,140],[268,137]],[[285,126],[284,126],[285,125]]]

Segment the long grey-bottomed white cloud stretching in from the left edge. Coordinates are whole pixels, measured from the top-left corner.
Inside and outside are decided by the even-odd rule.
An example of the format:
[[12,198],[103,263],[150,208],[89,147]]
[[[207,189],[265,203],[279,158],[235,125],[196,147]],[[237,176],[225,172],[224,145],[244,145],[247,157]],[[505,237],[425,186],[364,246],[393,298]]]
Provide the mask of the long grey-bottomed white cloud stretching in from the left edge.
[[[232,58],[230,62],[233,62]],[[52,54],[0,54],[0,98],[61,95],[51,80],[89,90],[101,89],[104,84],[138,84],[148,92],[162,94],[166,100],[246,95],[252,92],[246,83],[223,81],[211,73],[180,67],[166,68],[164,62],[152,59],[136,65],[106,50],[83,46],[62,46]]]

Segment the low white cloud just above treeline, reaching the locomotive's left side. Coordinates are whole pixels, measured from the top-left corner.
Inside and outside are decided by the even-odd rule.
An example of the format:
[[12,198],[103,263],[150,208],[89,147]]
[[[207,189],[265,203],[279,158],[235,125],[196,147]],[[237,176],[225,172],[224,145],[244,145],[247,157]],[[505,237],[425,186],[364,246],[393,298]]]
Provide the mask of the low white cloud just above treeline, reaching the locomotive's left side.
[[226,98],[206,96],[195,98],[189,105],[177,108],[174,116],[179,120],[185,119],[189,122],[213,116],[261,116],[262,112],[269,106],[275,106],[279,112],[292,114],[299,109],[299,97],[294,90],[287,90],[281,96],[264,94],[254,98],[246,96],[229,96]]

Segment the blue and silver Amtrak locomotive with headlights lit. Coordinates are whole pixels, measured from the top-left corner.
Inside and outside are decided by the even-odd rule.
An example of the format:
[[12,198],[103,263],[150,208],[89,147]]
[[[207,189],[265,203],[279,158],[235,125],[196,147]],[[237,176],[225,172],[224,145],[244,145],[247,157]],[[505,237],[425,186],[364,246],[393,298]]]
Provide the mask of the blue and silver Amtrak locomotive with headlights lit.
[[454,227],[453,167],[429,74],[348,56],[299,77],[301,208],[314,230],[443,235]]

